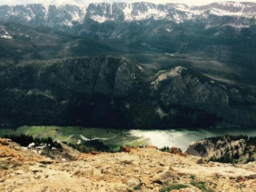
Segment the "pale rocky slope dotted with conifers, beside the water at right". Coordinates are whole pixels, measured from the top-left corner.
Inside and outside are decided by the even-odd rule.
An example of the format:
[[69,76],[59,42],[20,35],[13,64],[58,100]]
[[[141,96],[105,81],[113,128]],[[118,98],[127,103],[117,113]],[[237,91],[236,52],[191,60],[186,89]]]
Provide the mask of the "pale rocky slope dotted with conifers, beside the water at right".
[[191,143],[186,152],[207,161],[248,163],[256,158],[256,137],[246,135],[217,136]]

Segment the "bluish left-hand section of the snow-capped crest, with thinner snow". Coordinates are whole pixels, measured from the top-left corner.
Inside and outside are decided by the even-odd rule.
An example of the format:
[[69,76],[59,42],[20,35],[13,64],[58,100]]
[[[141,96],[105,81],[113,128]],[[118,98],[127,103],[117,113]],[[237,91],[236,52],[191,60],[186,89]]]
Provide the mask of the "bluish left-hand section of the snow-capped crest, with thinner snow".
[[0,19],[38,26],[72,27],[75,23],[81,23],[85,15],[86,7],[75,5],[30,4],[0,6]]

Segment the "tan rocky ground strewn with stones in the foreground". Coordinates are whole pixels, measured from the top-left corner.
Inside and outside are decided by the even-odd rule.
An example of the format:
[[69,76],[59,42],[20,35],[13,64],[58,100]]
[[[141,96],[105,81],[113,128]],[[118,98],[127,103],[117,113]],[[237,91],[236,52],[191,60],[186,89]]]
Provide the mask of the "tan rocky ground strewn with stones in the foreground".
[[124,151],[51,160],[0,139],[0,191],[256,191],[256,162],[206,163],[153,146]]

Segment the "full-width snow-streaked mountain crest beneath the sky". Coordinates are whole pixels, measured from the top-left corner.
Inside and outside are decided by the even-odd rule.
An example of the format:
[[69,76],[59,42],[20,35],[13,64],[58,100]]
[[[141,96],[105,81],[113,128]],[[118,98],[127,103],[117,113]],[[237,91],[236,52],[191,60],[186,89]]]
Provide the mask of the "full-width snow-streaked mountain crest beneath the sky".
[[0,6],[0,19],[48,27],[69,27],[90,19],[98,23],[154,18],[182,23],[210,15],[256,18],[256,3],[221,2],[206,6],[153,3],[94,3],[88,6],[30,4]]

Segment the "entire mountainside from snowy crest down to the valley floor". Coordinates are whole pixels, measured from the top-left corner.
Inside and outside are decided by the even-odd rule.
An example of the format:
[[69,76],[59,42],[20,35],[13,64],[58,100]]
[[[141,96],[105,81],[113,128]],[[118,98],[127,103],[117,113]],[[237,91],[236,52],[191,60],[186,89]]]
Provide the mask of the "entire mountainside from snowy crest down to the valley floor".
[[0,6],[0,125],[256,123],[256,3]]

